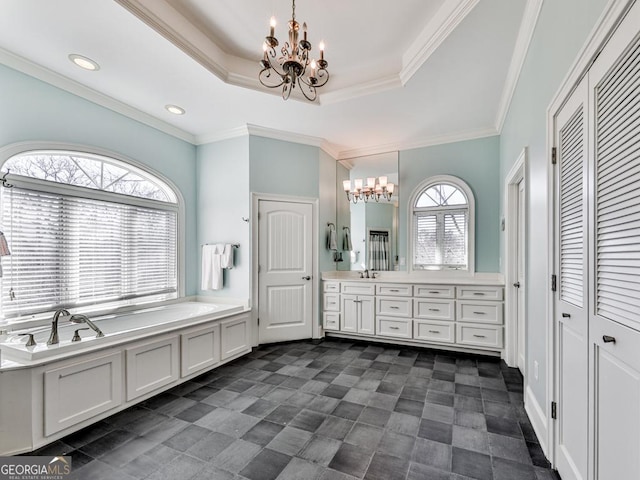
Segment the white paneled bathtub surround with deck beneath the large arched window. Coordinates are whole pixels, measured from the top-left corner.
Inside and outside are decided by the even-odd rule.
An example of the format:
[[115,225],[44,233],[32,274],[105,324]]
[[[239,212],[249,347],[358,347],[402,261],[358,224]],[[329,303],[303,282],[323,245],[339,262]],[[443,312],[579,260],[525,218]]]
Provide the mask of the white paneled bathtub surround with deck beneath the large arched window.
[[[0,343],[0,455],[52,443],[251,351],[242,306],[180,302],[96,317],[103,337],[59,324]],[[93,322],[92,322],[93,323]]]

